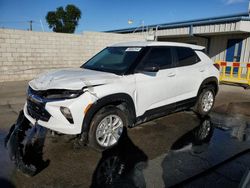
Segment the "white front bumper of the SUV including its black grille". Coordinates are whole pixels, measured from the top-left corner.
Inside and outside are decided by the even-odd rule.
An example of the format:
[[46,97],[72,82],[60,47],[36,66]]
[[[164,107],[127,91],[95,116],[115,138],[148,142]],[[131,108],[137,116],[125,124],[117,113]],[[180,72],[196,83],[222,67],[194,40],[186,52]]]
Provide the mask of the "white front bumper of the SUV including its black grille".
[[[30,102],[28,99],[24,105],[23,112],[25,117],[33,125],[37,123],[59,133],[77,135],[82,132],[85,109],[96,100],[97,98],[89,92],[85,92],[83,95],[74,99],[49,102]],[[65,107],[70,110],[73,122],[69,122],[63,115],[61,108]]]

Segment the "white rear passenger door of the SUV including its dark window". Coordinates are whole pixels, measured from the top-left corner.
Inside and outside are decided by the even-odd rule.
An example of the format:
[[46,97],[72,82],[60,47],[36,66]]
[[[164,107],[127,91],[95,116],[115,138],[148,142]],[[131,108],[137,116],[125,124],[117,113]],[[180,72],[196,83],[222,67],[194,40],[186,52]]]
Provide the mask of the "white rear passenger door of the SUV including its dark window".
[[176,100],[182,101],[197,95],[205,71],[204,64],[191,48],[175,48]]

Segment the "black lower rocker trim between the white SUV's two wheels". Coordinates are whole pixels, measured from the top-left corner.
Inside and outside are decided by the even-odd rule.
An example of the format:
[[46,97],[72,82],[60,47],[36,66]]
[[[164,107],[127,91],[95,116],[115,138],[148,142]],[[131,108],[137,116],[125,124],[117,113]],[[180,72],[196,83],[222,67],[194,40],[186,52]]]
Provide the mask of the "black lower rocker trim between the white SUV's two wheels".
[[136,125],[163,117],[165,115],[191,108],[195,105],[196,97],[186,99],[177,103],[168,104],[146,111],[142,116],[136,118]]

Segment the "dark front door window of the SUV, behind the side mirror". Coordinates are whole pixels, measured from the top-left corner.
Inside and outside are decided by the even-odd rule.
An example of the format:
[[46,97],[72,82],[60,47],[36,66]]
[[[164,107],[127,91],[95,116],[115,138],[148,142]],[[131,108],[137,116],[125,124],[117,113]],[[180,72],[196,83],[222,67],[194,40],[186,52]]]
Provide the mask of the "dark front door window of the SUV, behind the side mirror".
[[141,66],[158,65],[160,69],[172,67],[172,53],[169,47],[153,47],[146,55]]

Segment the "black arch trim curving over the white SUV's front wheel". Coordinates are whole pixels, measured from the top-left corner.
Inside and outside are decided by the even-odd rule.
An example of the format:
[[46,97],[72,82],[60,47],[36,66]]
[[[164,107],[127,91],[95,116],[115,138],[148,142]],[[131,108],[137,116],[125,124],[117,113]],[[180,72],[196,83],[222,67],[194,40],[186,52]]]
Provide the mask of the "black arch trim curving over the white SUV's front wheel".
[[82,126],[82,132],[88,132],[89,126],[91,123],[92,118],[96,114],[98,110],[103,108],[107,105],[118,105],[120,103],[125,103],[126,108],[128,110],[128,120],[130,124],[133,124],[135,122],[135,106],[134,101],[128,94],[125,93],[116,93],[112,95],[108,95],[106,97],[103,97],[99,100],[97,100],[88,110],[88,112],[85,114],[84,120],[83,120],[83,126]]

